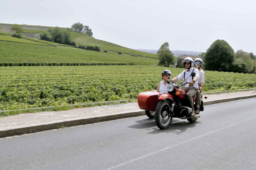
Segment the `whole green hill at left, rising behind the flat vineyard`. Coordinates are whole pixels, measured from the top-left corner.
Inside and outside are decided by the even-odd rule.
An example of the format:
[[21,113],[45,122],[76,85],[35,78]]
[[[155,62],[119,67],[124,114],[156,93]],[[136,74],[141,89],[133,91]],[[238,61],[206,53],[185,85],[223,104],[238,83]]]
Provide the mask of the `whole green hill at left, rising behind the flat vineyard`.
[[[37,27],[39,26],[34,28]],[[23,29],[23,32],[40,33],[43,31]],[[46,63],[72,63],[70,65],[156,65],[158,62],[156,54],[125,48],[95,39],[84,33],[70,32],[70,34],[77,46],[98,46],[101,52],[74,48],[70,45],[24,36],[18,39],[12,37],[11,34],[0,32],[0,66],[29,65],[24,63],[34,63],[34,66],[48,65]],[[118,54],[120,51],[122,55]]]

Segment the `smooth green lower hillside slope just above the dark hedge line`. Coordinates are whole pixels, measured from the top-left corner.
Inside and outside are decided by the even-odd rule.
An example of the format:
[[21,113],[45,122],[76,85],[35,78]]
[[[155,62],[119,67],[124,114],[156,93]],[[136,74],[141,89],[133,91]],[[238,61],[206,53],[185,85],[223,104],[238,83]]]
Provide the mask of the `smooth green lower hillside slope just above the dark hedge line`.
[[135,63],[155,65],[157,59],[0,41],[0,63]]

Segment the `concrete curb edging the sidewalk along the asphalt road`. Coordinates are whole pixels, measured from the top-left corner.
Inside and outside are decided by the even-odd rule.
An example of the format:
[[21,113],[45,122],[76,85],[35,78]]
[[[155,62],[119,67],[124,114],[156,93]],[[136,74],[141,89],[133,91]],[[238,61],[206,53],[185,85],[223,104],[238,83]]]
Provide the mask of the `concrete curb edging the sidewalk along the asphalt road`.
[[[256,94],[249,95],[249,96],[204,101],[204,106],[210,105],[210,104],[218,104],[218,103],[223,103],[228,101],[234,101],[234,100],[254,98],[254,97],[256,97]],[[87,116],[87,117],[64,119],[64,120],[52,121],[52,122],[14,126],[11,128],[2,128],[2,129],[0,128],[0,138],[58,129],[58,128],[61,128],[62,126],[71,127],[71,126],[78,126],[78,125],[86,125],[91,123],[105,122],[109,120],[116,120],[116,119],[123,119],[128,117],[136,117],[136,116],[144,116],[144,115],[145,115],[144,110],[133,110],[133,111],[125,111],[125,112],[111,113],[111,114],[105,114],[105,115]]]

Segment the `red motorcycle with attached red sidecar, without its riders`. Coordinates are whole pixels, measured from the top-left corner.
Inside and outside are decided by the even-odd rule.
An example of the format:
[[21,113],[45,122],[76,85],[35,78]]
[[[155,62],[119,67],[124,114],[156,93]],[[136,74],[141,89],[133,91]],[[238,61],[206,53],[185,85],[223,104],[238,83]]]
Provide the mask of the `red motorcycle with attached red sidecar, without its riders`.
[[[190,76],[195,76],[192,72]],[[186,97],[186,91],[181,87],[189,85],[188,82],[181,82],[180,85],[176,85],[170,80],[167,81],[168,93],[160,94],[156,90],[146,90],[145,92],[138,94],[139,108],[145,110],[146,115],[149,118],[155,118],[157,127],[160,129],[167,129],[173,118],[187,119],[189,122],[196,122],[200,118],[200,112],[203,108],[203,95],[201,95],[201,104],[199,106],[199,112],[194,116],[190,116],[192,108],[190,108],[189,101]],[[193,96],[193,105],[196,106],[196,95]]]

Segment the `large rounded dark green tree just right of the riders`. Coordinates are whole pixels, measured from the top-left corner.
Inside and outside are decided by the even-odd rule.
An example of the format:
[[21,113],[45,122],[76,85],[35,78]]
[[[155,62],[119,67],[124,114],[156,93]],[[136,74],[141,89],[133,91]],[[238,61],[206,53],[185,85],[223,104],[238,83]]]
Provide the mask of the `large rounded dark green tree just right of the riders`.
[[225,40],[216,40],[205,54],[206,70],[229,71],[234,61],[234,50]]

